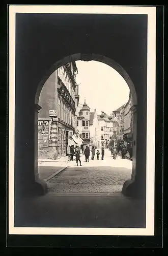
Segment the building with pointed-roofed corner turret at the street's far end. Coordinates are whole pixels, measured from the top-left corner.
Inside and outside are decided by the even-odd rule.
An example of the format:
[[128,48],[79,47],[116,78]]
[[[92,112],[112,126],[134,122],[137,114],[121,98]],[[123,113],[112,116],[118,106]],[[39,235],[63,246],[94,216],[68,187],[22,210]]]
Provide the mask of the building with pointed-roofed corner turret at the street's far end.
[[83,140],[83,145],[90,144],[90,108],[85,102],[78,112],[77,130],[80,138]]

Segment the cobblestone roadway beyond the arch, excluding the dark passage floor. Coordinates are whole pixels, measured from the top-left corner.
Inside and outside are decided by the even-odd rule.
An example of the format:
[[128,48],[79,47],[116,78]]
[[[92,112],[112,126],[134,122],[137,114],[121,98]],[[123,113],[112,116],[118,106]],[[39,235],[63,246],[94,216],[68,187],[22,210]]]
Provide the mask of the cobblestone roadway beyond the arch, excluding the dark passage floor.
[[122,190],[123,183],[131,178],[132,162],[128,159],[116,160],[105,151],[104,160],[90,160],[82,166],[69,162],[69,167],[47,182],[49,193],[114,193]]

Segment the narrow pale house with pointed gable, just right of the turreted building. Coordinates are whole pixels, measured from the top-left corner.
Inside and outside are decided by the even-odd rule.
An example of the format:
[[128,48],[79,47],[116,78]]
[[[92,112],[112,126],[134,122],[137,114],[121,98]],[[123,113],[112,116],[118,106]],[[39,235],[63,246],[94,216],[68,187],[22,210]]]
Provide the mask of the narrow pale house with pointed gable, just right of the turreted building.
[[90,145],[97,146],[97,148],[101,147],[100,129],[96,109],[94,112],[90,112]]

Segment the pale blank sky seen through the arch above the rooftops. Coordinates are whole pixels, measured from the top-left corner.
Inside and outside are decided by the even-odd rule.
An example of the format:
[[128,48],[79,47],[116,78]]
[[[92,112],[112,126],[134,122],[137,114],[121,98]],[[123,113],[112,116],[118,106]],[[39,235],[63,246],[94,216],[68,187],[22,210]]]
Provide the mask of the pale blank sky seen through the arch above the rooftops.
[[[79,84],[79,103],[86,103],[97,114],[110,114],[128,101],[129,87],[113,68],[98,61],[76,61]],[[79,105],[80,106],[80,105]]]

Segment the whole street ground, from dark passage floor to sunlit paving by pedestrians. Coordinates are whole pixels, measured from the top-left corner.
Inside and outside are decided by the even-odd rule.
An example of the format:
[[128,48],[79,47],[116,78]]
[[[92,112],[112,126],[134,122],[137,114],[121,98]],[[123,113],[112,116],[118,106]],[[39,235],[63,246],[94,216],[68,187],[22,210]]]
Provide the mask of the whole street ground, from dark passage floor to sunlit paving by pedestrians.
[[[48,177],[48,193],[27,198],[17,208],[16,226],[27,227],[145,227],[145,202],[122,193],[131,177],[132,162],[111,159],[105,150],[104,161],[76,161],[67,158],[39,162],[39,175]],[[67,167],[69,166],[69,167]]]

